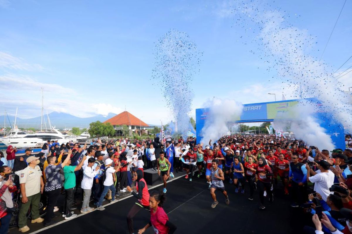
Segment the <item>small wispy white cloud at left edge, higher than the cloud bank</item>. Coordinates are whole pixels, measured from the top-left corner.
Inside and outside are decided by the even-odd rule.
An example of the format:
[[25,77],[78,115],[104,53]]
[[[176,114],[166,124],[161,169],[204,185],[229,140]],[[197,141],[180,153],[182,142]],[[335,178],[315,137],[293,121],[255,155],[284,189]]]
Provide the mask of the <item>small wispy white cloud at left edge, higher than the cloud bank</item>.
[[[0,0],[0,7],[2,6]],[[11,54],[0,51],[0,68],[25,71],[41,71],[43,67],[38,64],[29,64],[22,58],[17,58]]]

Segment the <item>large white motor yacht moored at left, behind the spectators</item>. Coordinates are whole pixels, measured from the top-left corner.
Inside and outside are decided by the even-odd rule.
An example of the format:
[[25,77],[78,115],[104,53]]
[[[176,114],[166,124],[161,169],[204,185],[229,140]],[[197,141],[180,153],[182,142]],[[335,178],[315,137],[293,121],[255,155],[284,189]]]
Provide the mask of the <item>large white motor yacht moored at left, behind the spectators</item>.
[[46,143],[48,140],[58,140],[60,144],[67,143],[70,140],[75,142],[77,139],[74,136],[63,135],[57,129],[41,129],[37,133],[33,134],[25,134],[22,137],[13,137],[11,135],[6,136],[5,138],[0,139],[2,143],[9,146],[21,148],[21,147],[29,147],[34,146],[38,143]]

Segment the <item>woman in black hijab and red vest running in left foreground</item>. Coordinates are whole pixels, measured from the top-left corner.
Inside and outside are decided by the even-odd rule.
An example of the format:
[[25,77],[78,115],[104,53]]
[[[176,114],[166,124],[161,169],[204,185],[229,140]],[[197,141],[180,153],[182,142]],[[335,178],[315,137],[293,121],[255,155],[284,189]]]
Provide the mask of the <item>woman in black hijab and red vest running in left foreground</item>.
[[136,214],[139,212],[140,209],[144,208],[148,211],[149,209],[149,191],[147,187],[147,183],[143,179],[143,172],[140,170],[137,170],[133,172],[133,181],[137,181],[136,183],[136,189],[137,193],[133,192],[132,188],[130,186],[127,186],[127,190],[131,192],[133,196],[135,196],[138,200],[136,203],[132,206],[130,209],[130,212],[127,214],[127,226],[128,226],[128,231],[130,234],[133,233],[133,217],[136,216]]

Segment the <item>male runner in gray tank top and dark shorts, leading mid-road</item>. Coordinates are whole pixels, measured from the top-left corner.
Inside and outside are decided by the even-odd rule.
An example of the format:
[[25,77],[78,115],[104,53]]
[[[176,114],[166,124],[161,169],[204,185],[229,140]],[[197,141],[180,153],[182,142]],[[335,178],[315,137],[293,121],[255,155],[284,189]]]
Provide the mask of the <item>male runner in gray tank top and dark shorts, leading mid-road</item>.
[[210,194],[214,200],[212,203],[212,208],[215,208],[215,206],[219,204],[219,202],[216,200],[215,190],[220,190],[224,194],[226,205],[230,204],[230,200],[228,199],[223,182],[223,180],[225,180],[224,173],[222,172],[221,168],[218,167],[218,164],[219,160],[212,160],[212,174],[210,176],[210,179],[212,180],[212,185],[210,186]]

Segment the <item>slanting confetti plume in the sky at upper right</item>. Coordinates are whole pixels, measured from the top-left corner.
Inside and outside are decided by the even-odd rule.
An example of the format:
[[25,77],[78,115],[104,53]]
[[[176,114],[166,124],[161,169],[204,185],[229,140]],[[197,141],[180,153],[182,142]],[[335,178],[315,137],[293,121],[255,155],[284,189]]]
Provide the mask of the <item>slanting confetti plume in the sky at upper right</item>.
[[[241,35],[240,40],[245,43],[246,38],[251,38],[263,63],[277,72],[277,79],[290,88],[301,87],[297,88],[298,97],[316,97],[320,102],[319,112],[332,115],[346,132],[352,133],[352,106],[341,89],[343,85],[334,78],[331,66],[310,55],[316,37],[291,25],[288,22],[291,15],[268,3],[257,0],[236,3],[233,9],[236,26],[247,35]],[[256,53],[254,50],[251,52]]]

